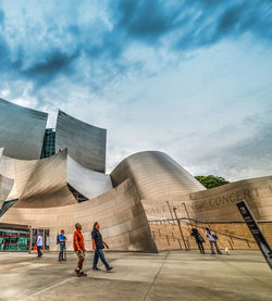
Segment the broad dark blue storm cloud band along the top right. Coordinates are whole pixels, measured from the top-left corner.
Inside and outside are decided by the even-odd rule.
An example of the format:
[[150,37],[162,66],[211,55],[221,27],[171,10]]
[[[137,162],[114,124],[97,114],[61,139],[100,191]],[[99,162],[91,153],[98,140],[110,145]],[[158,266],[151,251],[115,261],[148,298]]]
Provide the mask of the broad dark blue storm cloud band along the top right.
[[271,1],[125,1],[116,5],[115,28],[131,39],[157,43],[171,36],[170,48],[197,48],[250,33],[271,41]]

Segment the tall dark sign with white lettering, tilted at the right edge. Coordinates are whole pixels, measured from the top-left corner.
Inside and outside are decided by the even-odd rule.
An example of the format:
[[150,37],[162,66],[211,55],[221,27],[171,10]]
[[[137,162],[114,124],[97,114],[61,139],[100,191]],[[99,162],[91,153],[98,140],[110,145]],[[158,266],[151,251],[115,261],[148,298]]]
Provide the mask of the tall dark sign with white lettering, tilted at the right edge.
[[236,203],[236,205],[239,210],[239,213],[244,217],[250,233],[252,234],[256,242],[258,243],[265,261],[268,262],[270,268],[272,269],[272,251],[271,251],[271,248],[270,248],[265,237],[263,236],[261,229],[259,228],[258,223],[255,220],[252,212],[248,208],[246,201],[240,201],[240,202]]

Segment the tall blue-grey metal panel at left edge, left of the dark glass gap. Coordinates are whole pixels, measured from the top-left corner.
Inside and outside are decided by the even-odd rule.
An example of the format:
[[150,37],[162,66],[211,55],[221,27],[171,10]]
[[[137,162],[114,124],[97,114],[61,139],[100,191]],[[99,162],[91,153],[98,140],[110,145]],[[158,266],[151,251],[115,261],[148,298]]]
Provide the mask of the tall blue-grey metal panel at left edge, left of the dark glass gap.
[[47,125],[47,113],[0,99],[0,147],[10,158],[39,159]]

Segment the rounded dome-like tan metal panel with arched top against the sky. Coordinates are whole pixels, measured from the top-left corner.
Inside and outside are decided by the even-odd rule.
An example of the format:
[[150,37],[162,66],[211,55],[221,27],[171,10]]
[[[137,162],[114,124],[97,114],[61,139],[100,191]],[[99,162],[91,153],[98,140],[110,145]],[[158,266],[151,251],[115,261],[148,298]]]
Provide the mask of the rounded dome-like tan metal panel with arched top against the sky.
[[174,200],[206,189],[186,170],[163,152],[145,151],[123,160],[111,173],[113,186],[131,178],[140,199]]

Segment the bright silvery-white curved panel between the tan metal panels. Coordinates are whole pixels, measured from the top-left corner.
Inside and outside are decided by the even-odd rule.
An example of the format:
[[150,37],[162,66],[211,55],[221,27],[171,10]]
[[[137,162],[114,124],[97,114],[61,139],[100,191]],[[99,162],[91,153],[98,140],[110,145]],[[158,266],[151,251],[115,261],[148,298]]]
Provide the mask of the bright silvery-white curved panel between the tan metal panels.
[[112,189],[109,175],[90,171],[70,156],[67,156],[67,183],[89,200]]

